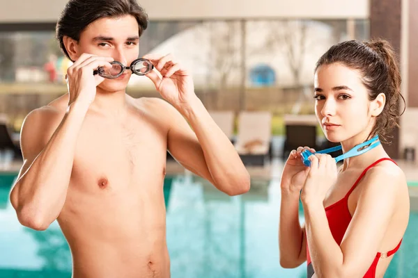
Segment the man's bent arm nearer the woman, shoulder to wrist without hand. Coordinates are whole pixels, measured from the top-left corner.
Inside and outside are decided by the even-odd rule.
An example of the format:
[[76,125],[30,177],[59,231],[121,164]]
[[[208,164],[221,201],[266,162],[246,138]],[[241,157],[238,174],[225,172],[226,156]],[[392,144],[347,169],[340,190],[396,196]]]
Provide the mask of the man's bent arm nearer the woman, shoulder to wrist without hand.
[[200,99],[194,98],[183,111],[162,102],[169,121],[168,149],[173,157],[228,195],[246,193],[250,186],[247,169]]

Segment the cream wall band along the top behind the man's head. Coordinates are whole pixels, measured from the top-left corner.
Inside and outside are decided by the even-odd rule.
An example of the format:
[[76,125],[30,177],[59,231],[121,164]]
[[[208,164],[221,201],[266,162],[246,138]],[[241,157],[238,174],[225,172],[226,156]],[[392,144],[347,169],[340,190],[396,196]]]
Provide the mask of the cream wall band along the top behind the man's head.
[[[1,22],[55,22],[67,0],[0,0]],[[139,0],[150,19],[368,18],[369,0]]]

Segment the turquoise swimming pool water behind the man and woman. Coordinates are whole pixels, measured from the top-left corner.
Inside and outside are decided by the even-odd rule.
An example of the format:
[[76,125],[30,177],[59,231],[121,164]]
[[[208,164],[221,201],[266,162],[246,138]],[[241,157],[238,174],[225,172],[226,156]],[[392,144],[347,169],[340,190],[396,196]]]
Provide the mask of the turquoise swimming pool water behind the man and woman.
[[[8,202],[13,179],[0,175],[0,277],[70,278],[70,250],[58,224],[33,231],[17,221]],[[229,197],[194,176],[171,176],[164,196],[172,278],[306,277],[305,263],[279,265],[279,180],[255,179],[249,193]],[[385,277],[418,277],[417,229],[418,214],[411,213]]]

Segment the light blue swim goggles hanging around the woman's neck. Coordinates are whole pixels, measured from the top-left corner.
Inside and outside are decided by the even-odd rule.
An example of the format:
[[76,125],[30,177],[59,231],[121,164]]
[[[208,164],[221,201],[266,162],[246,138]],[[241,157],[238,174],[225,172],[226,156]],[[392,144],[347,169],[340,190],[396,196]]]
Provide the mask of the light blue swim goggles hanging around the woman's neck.
[[[369,147],[366,147],[368,145]],[[336,158],[334,158],[335,163],[342,161],[343,159],[346,159],[349,157],[358,156],[360,154],[364,154],[365,152],[369,152],[371,149],[378,147],[378,145],[380,145],[380,140],[379,140],[379,136],[376,135],[370,140],[367,140],[366,142],[363,142],[362,144],[356,145],[355,147],[353,147],[353,149],[350,149],[350,151],[346,152],[345,154],[341,154],[341,156],[337,156]],[[322,151],[315,152],[315,153],[310,152],[309,149],[305,149],[301,154],[302,162],[305,166],[311,167],[311,161],[309,161],[309,156],[314,155],[314,154],[329,154],[331,152],[336,152],[339,150],[341,150],[341,145],[332,147],[330,149],[323,149]]]

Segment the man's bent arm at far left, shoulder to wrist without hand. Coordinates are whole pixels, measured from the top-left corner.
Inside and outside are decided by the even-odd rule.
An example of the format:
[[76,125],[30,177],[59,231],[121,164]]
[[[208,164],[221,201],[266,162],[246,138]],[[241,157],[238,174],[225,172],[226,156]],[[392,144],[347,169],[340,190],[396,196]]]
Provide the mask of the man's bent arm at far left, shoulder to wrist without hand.
[[46,106],[24,120],[24,164],[10,193],[10,202],[24,226],[45,230],[61,213],[84,111],[72,105],[63,116]]

